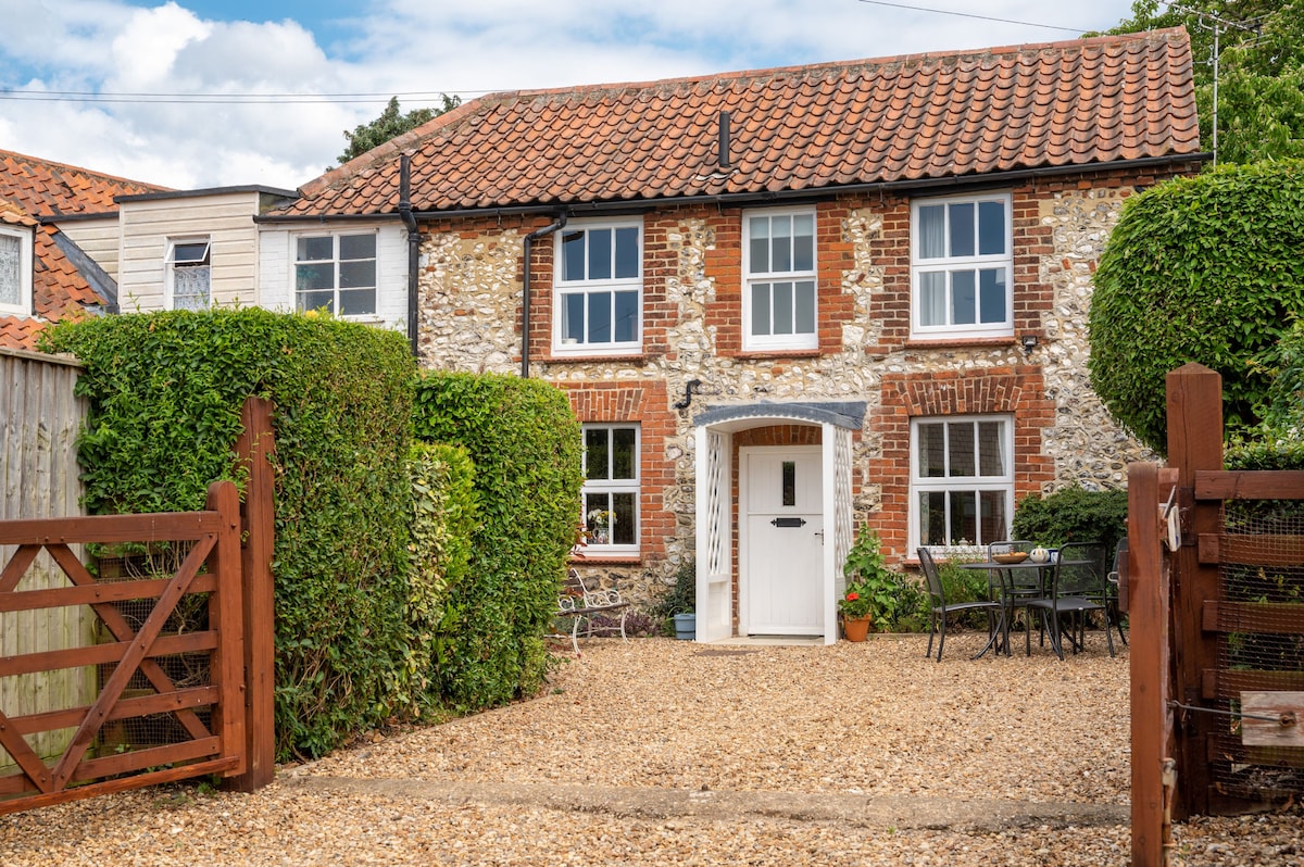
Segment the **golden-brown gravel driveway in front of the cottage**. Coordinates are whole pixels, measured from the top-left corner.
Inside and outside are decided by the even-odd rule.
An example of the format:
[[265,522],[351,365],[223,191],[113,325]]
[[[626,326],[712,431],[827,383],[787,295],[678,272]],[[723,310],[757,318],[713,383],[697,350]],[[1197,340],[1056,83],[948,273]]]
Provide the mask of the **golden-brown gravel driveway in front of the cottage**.
[[[540,698],[286,765],[0,816],[0,864],[1125,864],[1128,660],[597,639]],[[567,654],[569,656],[569,654]],[[1299,812],[1175,863],[1304,864]]]

